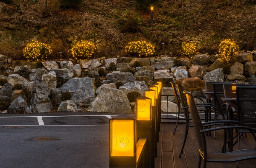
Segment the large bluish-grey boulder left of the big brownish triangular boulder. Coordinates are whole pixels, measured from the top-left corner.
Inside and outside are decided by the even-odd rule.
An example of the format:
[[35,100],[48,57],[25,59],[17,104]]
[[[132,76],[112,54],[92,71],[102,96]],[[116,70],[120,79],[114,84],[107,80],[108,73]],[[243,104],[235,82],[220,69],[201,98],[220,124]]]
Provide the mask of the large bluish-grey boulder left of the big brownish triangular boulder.
[[69,92],[79,106],[88,106],[95,98],[94,78],[71,78],[61,86],[61,92]]

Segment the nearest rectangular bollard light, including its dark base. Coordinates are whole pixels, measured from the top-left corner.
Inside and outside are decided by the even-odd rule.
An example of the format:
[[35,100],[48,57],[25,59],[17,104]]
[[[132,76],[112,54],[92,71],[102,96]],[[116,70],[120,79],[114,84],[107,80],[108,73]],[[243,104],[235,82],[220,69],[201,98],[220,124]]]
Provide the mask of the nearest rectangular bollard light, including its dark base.
[[110,119],[110,168],[136,167],[136,120],[127,114]]

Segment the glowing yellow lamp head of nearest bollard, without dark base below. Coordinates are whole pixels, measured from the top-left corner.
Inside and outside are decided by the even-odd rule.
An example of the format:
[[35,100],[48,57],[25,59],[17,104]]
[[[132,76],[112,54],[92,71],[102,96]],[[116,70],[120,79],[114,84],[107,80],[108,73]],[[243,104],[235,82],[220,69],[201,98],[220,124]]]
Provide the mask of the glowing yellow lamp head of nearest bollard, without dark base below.
[[127,114],[110,119],[110,156],[136,156],[136,120]]

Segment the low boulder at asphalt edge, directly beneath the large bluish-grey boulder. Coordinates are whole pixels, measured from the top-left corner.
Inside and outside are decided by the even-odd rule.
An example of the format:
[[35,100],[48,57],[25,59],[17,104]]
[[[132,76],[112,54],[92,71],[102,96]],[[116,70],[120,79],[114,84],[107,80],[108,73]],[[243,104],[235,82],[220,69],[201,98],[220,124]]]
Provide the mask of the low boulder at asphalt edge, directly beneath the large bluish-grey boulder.
[[66,100],[62,101],[58,106],[58,112],[81,112],[83,109],[80,106],[77,106],[75,101]]

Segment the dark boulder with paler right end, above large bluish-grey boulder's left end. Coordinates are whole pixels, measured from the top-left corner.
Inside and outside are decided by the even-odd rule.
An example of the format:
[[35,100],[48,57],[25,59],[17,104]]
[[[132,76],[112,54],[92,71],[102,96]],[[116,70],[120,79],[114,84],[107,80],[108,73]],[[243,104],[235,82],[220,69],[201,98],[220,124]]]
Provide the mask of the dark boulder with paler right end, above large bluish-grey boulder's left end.
[[57,87],[66,83],[70,78],[75,76],[74,71],[68,70],[67,68],[54,70],[54,72],[56,73]]

